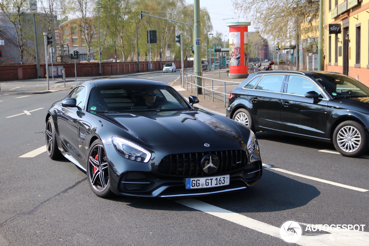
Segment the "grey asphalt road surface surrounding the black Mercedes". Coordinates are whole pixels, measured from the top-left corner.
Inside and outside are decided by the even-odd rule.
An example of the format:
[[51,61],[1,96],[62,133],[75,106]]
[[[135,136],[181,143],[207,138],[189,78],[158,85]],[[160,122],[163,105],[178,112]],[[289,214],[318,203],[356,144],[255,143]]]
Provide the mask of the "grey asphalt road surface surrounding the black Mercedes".
[[[179,73],[134,76],[176,81],[175,86]],[[38,82],[6,85],[39,89],[34,83]],[[332,144],[258,132],[261,157],[269,167],[263,168],[261,182],[251,188],[180,201],[102,199],[70,161],[53,161],[45,152],[20,157],[45,145],[46,111],[70,89],[23,97],[16,95],[19,88],[4,88],[1,84],[0,246],[288,245],[277,235],[287,220],[302,225],[299,245],[369,245],[367,158],[319,151],[334,150]],[[200,105],[210,108],[201,100]],[[341,235],[305,231],[306,224],[365,226],[363,232]],[[322,233],[326,239],[308,239],[311,233]]]

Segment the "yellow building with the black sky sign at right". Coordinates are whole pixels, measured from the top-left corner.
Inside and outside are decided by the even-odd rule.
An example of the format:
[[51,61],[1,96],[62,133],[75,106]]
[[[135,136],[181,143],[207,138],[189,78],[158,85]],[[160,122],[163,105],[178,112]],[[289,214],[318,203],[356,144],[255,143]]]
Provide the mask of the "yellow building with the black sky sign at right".
[[324,70],[369,86],[369,0],[325,0],[324,6]]

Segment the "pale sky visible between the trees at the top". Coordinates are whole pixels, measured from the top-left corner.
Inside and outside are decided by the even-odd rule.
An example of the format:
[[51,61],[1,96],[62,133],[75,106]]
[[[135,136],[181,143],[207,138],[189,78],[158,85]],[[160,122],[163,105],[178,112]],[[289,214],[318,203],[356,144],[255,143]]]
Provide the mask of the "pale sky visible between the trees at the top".
[[[186,0],[187,3],[193,3],[193,0]],[[227,22],[242,22],[242,21],[251,21],[246,20],[245,18],[241,17],[238,19],[237,14],[234,13],[234,8],[232,6],[231,0],[200,0],[200,7],[206,7],[210,17],[211,22],[213,24],[213,32],[216,33],[223,33],[223,40],[228,39],[228,32],[229,28],[227,27]],[[234,19],[228,19],[228,18],[234,18]],[[228,19],[228,20],[223,20]],[[254,27],[249,26],[249,31],[254,31]],[[224,37],[224,35],[227,35]]]

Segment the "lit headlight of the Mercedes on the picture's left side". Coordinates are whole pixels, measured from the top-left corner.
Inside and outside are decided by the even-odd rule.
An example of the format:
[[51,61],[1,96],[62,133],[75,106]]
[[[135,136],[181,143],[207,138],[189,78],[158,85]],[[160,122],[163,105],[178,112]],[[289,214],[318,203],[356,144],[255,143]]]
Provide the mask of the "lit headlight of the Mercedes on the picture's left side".
[[113,136],[111,141],[118,153],[128,160],[147,163],[151,158],[150,151],[127,139]]

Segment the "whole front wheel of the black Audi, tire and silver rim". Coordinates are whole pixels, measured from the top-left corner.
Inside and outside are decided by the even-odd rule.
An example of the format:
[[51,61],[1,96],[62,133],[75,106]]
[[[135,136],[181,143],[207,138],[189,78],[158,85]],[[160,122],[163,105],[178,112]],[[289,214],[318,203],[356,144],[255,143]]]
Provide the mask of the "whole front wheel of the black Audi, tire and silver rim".
[[347,157],[358,157],[368,150],[364,127],[352,120],[344,121],[336,127],[333,144],[342,156]]

